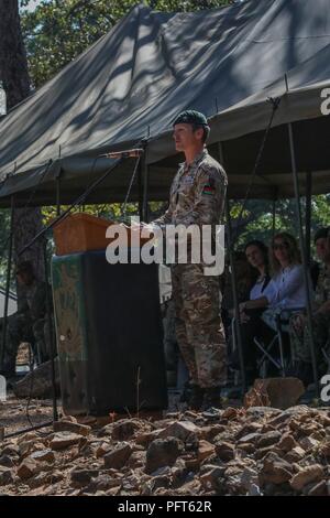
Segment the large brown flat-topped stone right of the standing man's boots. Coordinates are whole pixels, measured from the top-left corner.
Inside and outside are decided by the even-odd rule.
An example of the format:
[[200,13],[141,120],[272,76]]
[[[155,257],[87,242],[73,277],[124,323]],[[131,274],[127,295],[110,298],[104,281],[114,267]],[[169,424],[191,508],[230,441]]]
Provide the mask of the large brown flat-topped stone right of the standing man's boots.
[[244,406],[287,409],[296,404],[304,392],[304,384],[298,378],[256,379],[245,395]]

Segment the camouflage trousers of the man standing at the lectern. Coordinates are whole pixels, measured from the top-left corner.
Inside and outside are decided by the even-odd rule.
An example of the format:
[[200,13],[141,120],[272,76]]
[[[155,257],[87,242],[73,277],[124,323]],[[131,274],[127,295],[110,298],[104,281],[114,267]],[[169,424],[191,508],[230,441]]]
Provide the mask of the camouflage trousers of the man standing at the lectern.
[[172,267],[176,338],[193,384],[202,388],[226,381],[226,339],[220,316],[219,277],[202,265]]

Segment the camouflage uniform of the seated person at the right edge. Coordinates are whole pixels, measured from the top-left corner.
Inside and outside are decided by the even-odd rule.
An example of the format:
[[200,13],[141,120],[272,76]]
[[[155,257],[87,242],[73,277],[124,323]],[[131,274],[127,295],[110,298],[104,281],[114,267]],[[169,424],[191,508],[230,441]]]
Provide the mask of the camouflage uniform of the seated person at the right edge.
[[[315,292],[314,309],[317,311],[321,305],[330,300],[330,268],[324,265],[320,268],[320,273]],[[294,359],[311,363],[310,341],[307,323],[302,328],[295,325],[295,315],[289,323],[290,343]],[[322,347],[327,347],[330,336],[330,311],[314,313],[312,315],[314,343],[316,347],[317,360],[322,361]]]

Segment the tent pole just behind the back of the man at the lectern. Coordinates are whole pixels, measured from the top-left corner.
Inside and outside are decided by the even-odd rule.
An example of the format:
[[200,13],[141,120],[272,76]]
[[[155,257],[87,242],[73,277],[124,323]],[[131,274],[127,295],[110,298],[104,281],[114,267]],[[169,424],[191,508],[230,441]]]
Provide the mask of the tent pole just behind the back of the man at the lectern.
[[[218,144],[218,153],[221,164],[224,166],[224,155],[223,155],[223,148],[222,143],[219,142]],[[232,240],[232,226],[231,226],[231,216],[230,216],[230,204],[229,199],[226,196],[224,199],[224,211],[226,211],[226,220],[227,220],[227,236],[228,236],[228,248],[229,248],[229,261],[231,268],[231,279],[232,279],[232,295],[233,295],[233,303],[234,303],[234,325],[235,325],[235,334],[238,337],[238,348],[239,348],[239,358],[240,358],[240,368],[241,368],[241,378],[242,378],[242,396],[246,392],[246,376],[245,376],[245,366],[244,366],[244,357],[243,357],[243,347],[242,347],[242,334],[241,334],[241,326],[240,326],[240,307],[239,307],[239,298],[238,298],[238,278],[237,278],[237,270],[235,270],[235,261],[234,261],[234,249],[233,249],[233,240]]]

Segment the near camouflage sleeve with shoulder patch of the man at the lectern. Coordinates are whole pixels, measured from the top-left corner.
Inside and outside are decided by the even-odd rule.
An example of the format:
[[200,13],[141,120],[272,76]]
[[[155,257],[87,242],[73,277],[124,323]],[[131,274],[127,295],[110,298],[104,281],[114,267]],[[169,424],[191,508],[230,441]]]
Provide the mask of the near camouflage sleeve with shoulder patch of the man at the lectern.
[[186,226],[219,224],[226,188],[227,179],[222,170],[201,166],[196,176],[194,207],[182,223]]

